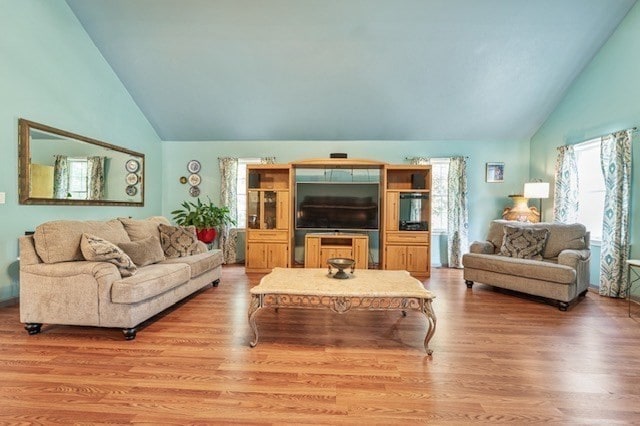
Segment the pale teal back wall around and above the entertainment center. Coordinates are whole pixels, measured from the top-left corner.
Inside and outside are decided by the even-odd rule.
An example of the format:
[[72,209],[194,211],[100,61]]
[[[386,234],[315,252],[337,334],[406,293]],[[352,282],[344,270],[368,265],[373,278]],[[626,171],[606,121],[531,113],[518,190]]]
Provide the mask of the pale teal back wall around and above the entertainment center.
[[[510,206],[509,194],[522,193],[529,178],[529,141],[215,141],[163,142],[163,213],[191,197],[189,185],[179,182],[188,176],[187,162],[202,163],[201,197],[217,204],[220,192],[218,157],[276,157],[278,163],[310,158],[329,158],[331,152],[346,152],[349,158],[364,158],[387,163],[406,163],[406,157],[469,157],[469,240],[484,239],[490,220],[501,217]],[[505,163],[504,183],[485,182],[485,163]],[[436,255],[436,248],[432,250]]]

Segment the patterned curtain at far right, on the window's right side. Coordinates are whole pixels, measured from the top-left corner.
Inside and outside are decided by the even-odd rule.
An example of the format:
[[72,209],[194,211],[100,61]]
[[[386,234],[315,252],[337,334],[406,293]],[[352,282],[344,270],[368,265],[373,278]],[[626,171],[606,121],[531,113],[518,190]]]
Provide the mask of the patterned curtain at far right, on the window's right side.
[[631,202],[631,132],[602,138],[600,162],[604,175],[604,215],[600,249],[600,294],[627,296],[625,261],[629,257]]

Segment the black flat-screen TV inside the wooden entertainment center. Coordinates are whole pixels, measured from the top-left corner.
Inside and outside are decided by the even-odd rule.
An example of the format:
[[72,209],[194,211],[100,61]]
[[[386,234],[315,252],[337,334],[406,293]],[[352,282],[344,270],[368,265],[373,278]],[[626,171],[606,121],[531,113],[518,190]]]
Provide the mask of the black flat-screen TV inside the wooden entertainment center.
[[378,230],[380,185],[360,182],[298,182],[296,229]]

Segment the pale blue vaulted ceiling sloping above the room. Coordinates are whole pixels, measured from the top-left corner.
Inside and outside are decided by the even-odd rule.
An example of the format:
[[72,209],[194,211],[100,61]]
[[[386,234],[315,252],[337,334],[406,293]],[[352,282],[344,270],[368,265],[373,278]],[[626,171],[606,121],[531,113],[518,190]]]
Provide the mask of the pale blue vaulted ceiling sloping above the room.
[[67,3],[163,140],[519,140],[635,0]]

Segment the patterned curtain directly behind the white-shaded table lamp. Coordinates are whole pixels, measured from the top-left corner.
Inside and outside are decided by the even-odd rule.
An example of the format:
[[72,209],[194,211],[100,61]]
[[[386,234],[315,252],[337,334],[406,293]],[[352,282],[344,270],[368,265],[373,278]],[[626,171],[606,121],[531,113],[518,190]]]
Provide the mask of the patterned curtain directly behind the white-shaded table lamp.
[[578,221],[578,166],[576,153],[571,145],[560,146],[556,159],[555,198],[553,216],[555,222]]

